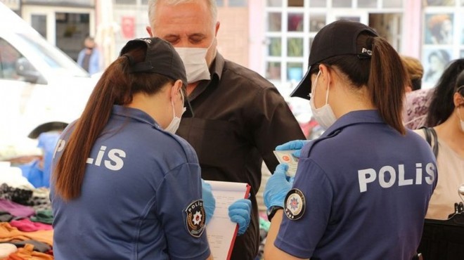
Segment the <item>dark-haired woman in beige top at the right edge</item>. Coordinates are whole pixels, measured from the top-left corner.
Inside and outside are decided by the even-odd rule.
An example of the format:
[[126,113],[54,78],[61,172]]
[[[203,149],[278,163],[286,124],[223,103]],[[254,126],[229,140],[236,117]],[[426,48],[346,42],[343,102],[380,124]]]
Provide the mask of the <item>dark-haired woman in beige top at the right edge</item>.
[[[458,77],[459,76],[459,77]],[[426,126],[437,133],[437,188],[430,199],[427,219],[448,219],[454,203],[461,202],[458,188],[464,183],[464,59],[454,60],[434,87]],[[425,138],[423,129],[415,130]],[[433,143],[433,142],[432,142]]]

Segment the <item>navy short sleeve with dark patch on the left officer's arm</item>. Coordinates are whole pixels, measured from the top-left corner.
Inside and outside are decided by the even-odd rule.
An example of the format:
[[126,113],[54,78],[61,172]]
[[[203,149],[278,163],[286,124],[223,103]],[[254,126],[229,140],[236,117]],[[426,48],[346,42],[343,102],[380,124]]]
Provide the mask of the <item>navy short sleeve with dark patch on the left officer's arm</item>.
[[[205,226],[196,230],[188,226],[188,210],[202,207],[201,196],[200,167],[193,163],[170,171],[157,189],[156,211],[171,259],[206,259],[210,255]],[[201,211],[195,213],[195,225],[205,225]]]

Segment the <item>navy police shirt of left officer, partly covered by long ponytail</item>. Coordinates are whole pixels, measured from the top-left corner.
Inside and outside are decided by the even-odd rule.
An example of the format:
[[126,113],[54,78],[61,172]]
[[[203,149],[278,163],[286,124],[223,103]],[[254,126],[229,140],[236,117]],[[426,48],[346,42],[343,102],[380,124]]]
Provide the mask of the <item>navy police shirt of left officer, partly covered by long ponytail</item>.
[[[195,233],[187,223],[187,210],[202,203],[191,145],[145,112],[119,105],[102,133],[77,199],[63,202],[52,182],[56,259],[206,259],[206,232]],[[193,222],[204,217],[197,212]]]

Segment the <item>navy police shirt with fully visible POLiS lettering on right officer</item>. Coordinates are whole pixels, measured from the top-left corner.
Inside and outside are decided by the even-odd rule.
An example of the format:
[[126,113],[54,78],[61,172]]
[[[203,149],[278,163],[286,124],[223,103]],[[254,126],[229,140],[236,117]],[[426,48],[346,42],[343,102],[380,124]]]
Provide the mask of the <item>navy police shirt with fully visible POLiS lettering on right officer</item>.
[[377,110],[349,112],[302,149],[274,245],[300,258],[410,260],[436,169],[417,134]]

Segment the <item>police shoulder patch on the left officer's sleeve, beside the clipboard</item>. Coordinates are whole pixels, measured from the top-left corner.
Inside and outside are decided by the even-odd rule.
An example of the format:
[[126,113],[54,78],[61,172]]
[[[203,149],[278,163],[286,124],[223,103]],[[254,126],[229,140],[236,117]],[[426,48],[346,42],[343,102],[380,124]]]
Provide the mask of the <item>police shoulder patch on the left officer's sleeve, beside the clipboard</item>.
[[186,208],[186,228],[188,233],[200,238],[205,230],[205,209],[203,208],[202,200],[195,200]]

